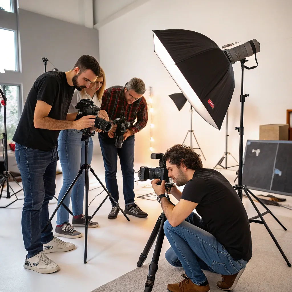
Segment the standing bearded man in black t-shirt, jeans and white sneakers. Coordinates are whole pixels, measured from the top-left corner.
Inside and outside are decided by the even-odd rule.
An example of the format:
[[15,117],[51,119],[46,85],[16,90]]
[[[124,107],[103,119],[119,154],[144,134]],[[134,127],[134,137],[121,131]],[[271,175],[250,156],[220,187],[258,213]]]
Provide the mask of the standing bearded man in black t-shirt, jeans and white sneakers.
[[60,130],[81,130],[94,125],[95,116],[75,121],[77,113],[67,114],[74,89],[89,87],[100,73],[95,58],[83,55],[72,70],[46,72],[36,79],[25,102],[13,136],[15,158],[22,178],[24,204],[22,235],[27,250],[24,267],[42,274],[60,267],[45,253],[69,251],[74,244],[54,236],[48,202],[55,195],[56,144]]

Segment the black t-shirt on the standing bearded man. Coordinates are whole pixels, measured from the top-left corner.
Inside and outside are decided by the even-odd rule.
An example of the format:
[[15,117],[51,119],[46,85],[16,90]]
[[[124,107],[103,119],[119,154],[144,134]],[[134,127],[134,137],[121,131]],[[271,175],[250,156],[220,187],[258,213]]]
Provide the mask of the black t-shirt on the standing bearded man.
[[65,120],[73,93],[74,86],[69,86],[65,72],[51,71],[42,74],[36,79],[27,95],[13,141],[37,150],[51,151],[55,149],[60,131],[34,127],[36,101],[42,100],[52,106],[48,117]]

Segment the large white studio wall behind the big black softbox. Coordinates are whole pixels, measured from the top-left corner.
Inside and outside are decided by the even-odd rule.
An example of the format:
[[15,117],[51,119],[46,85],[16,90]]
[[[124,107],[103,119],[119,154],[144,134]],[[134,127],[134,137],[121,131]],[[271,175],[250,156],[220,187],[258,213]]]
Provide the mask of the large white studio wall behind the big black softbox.
[[[140,77],[146,86],[152,86],[153,147],[155,152],[164,152],[183,142],[190,124],[189,104],[178,112],[168,97],[180,91],[154,53],[152,30],[190,29],[205,34],[220,47],[256,38],[261,44],[259,66],[246,70],[244,77],[244,93],[250,94],[245,102],[244,137],[258,139],[259,125],[286,123],[286,109],[292,107],[291,12],[292,2],[286,0],[246,0],[244,5],[227,0],[151,0],[99,29],[100,63],[107,86],[124,85],[132,77]],[[254,56],[248,59],[246,65],[255,65]],[[233,69],[235,90],[229,110],[228,150],[238,157],[239,134],[234,127],[239,126],[240,64]],[[149,124],[135,138],[135,161],[144,161],[144,165],[150,160]],[[193,126],[207,158],[205,166],[212,167],[225,151],[225,122],[218,131],[194,112]]]

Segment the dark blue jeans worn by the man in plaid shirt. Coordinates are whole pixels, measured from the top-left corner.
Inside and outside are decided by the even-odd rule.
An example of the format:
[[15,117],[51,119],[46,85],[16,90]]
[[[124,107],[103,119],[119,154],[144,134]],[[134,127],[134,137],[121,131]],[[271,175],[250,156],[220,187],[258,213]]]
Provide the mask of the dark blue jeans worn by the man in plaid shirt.
[[[134,146],[135,136],[130,136],[124,141],[121,148],[114,147],[114,138],[106,138],[98,134],[100,148],[105,166],[105,184],[107,190],[112,194],[113,198],[119,203],[119,189],[117,184],[117,163],[118,155],[121,163],[123,174],[123,193],[125,204],[135,201],[134,193]],[[112,204],[114,203],[110,199]]]

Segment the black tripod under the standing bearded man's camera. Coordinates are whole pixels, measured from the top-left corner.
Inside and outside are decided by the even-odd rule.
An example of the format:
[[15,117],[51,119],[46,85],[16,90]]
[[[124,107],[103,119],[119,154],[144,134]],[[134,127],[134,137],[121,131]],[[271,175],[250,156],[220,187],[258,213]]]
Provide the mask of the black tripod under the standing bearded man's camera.
[[[90,136],[88,135],[88,133],[85,133],[83,130],[81,130],[81,131],[83,132],[82,137],[81,137],[81,141],[84,141],[84,145],[85,145],[85,159],[84,159],[84,164],[82,164],[82,166],[80,167],[80,170],[79,170],[76,178],[74,178],[74,180],[73,180],[72,184],[70,185],[69,189],[67,190],[67,192],[65,193],[64,197],[61,199],[60,203],[58,204],[57,208],[55,209],[55,211],[51,215],[49,221],[47,222],[47,224],[46,224],[46,226],[44,228],[44,230],[46,230],[46,228],[48,227],[48,225],[51,223],[51,221],[53,220],[53,217],[55,216],[55,214],[57,213],[58,209],[60,208],[60,206],[62,205],[63,201],[65,200],[65,197],[67,196],[67,194],[69,194],[70,190],[75,185],[75,183],[77,182],[79,176],[82,174],[82,172],[84,170],[85,171],[85,219],[86,219],[85,220],[85,238],[84,238],[84,264],[86,264],[86,262],[87,262],[86,261],[86,258],[87,258],[87,230],[88,230],[88,224],[90,223],[91,219],[96,214],[96,212],[100,209],[100,207],[102,206],[102,204],[106,201],[106,199],[108,197],[110,197],[114,201],[114,203],[117,205],[117,207],[121,210],[121,212],[124,214],[124,216],[127,218],[127,220],[130,221],[130,219],[124,213],[124,211],[121,209],[121,207],[118,205],[118,203],[112,197],[112,195],[107,191],[106,187],[102,184],[102,182],[100,181],[100,179],[98,178],[98,176],[95,174],[95,172],[91,168],[91,165],[87,163],[87,158],[88,158],[88,141],[89,141],[89,137]],[[94,135],[94,132],[92,133],[91,136],[93,136],[93,135]],[[98,182],[100,183],[100,185],[103,187],[103,189],[107,193],[107,196],[102,201],[102,203],[98,206],[98,208],[95,210],[95,212],[92,214],[92,216],[88,216],[89,170],[95,176],[95,178],[98,180]],[[66,207],[66,209],[68,210],[67,207]],[[44,232],[44,230],[42,232]]]

